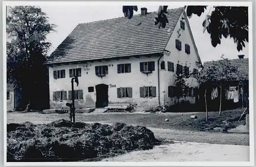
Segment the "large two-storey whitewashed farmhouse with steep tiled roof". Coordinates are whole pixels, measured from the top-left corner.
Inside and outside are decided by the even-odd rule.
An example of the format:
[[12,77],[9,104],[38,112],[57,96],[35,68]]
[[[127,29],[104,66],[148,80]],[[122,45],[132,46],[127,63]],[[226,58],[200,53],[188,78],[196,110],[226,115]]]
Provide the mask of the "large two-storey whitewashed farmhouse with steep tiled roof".
[[[48,57],[50,108],[71,102],[71,78],[75,84],[75,107],[105,107],[130,103],[137,110],[173,105],[176,70],[202,66],[184,8],[167,11],[165,28],[154,24],[156,12],[80,23]],[[198,84],[181,97],[196,102]]]

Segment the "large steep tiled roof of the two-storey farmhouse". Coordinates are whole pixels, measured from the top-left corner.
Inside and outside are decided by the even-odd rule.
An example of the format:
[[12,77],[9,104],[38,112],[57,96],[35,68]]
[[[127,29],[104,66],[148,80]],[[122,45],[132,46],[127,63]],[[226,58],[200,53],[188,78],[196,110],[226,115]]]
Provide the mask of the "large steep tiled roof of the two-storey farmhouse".
[[165,29],[154,24],[156,12],[78,24],[48,57],[46,64],[99,60],[163,52],[183,8],[168,10]]

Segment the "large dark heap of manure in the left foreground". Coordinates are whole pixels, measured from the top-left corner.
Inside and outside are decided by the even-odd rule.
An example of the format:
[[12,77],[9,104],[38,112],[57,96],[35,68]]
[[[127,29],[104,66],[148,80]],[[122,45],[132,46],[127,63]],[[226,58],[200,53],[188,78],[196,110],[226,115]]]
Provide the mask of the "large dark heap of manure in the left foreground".
[[7,125],[7,161],[94,161],[160,142],[144,126],[58,120],[50,124]]

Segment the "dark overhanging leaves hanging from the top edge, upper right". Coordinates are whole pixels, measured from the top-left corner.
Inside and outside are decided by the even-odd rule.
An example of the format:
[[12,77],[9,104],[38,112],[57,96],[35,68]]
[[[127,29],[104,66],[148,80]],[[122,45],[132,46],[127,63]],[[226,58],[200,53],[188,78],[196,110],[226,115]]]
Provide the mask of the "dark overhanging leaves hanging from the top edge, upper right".
[[[186,14],[190,18],[193,14],[201,16],[207,6],[185,6]],[[165,16],[167,6],[159,6],[155,16],[155,25],[164,28],[168,19]],[[137,11],[137,6],[123,6],[124,16],[131,19],[133,10]],[[207,14],[202,23],[203,32],[207,30],[210,34],[211,45],[216,47],[221,44],[222,37],[232,38],[240,51],[248,42],[248,7],[228,7],[214,6],[211,14]]]

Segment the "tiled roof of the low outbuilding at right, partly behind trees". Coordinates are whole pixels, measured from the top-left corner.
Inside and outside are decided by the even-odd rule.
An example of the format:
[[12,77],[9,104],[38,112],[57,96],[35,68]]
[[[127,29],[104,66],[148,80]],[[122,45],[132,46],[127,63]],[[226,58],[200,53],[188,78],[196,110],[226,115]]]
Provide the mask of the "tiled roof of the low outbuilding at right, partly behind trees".
[[[217,68],[221,69],[220,61],[211,61],[211,62],[204,62],[203,64],[203,71],[205,71],[207,68],[211,68],[213,64],[217,66]],[[237,67],[240,71],[241,76],[243,76],[246,79],[249,79],[249,59],[232,59],[229,60],[230,64]],[[238,78],[237,74],[230,74],[230,77],[232,78]]]

